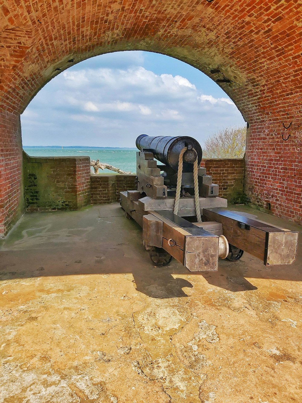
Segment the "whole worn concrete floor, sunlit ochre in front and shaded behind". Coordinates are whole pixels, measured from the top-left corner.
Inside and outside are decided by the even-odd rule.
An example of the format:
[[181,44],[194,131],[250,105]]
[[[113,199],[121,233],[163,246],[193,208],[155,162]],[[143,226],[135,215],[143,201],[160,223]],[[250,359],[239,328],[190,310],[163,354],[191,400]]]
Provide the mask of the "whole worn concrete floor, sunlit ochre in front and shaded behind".
[[301,244],[192,274],[118,204],[26,214],[0,242],[0,403],[301,402]]

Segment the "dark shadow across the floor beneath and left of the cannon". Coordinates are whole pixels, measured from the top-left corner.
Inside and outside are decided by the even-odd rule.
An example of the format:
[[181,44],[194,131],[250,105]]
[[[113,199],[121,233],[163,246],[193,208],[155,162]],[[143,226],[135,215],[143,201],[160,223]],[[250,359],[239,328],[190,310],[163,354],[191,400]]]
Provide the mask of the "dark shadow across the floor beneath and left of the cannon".
[[[301,251],[300,237],[299,253]],[[43,276],[132,273],[137,291],[153,298],[186,297],[185,278],[203,276],[215,287],[249,291],[247,278],[301,280],[301,253],[291,266],[263,266],[247,253],[238,262],[219,259],[217,272],[189,272],[172,260],[154,267],[142,242],[141,227],[124,218],[118,204],[74,212],[26,214],[0,241],[0,280]],[[190,277],[190,278],[191,278]]]

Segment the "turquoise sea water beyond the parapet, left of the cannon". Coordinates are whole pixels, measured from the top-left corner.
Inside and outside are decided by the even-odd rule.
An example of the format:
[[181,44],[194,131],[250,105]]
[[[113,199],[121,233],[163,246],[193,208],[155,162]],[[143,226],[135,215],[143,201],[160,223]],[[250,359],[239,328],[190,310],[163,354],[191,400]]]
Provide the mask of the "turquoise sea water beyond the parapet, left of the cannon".
[[[102,149],[97,147],[23,147],[24,151],[33,157],[71,157],[89,156],[91,160],[110,164],[123,171],[136,172],[136,148],[134,149]],[[100,169],[99,172],[112,173],[113,171]]]

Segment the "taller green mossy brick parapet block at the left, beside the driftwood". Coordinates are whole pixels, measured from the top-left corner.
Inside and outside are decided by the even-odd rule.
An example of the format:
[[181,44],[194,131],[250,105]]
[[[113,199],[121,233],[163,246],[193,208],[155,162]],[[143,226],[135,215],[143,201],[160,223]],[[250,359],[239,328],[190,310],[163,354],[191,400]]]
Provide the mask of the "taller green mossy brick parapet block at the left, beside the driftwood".
[[77,210],[90,203],[89,157],[30,157],[24,153],[27,211]]

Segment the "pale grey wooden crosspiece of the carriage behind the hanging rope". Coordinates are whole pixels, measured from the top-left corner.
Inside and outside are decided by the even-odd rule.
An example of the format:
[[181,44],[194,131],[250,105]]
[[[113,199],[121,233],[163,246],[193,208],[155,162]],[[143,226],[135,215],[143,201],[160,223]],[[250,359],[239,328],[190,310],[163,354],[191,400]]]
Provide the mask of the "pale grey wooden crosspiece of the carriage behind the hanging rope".
[[[172,197],[167,197],[167,199],[158,200],[152,199],[152,197],[142,197],[139,199],[139,204],[142,206],[142,210],[173,210],[175,199]],[[203,208],[213,208],[213,207],[227,207],[227,199],[221,197],[199,197],[199,205],[201,208],[201,214]],[[179,201],[178,215],[182,217],[194,216],[195,204],[194,198],[181,197]]]

